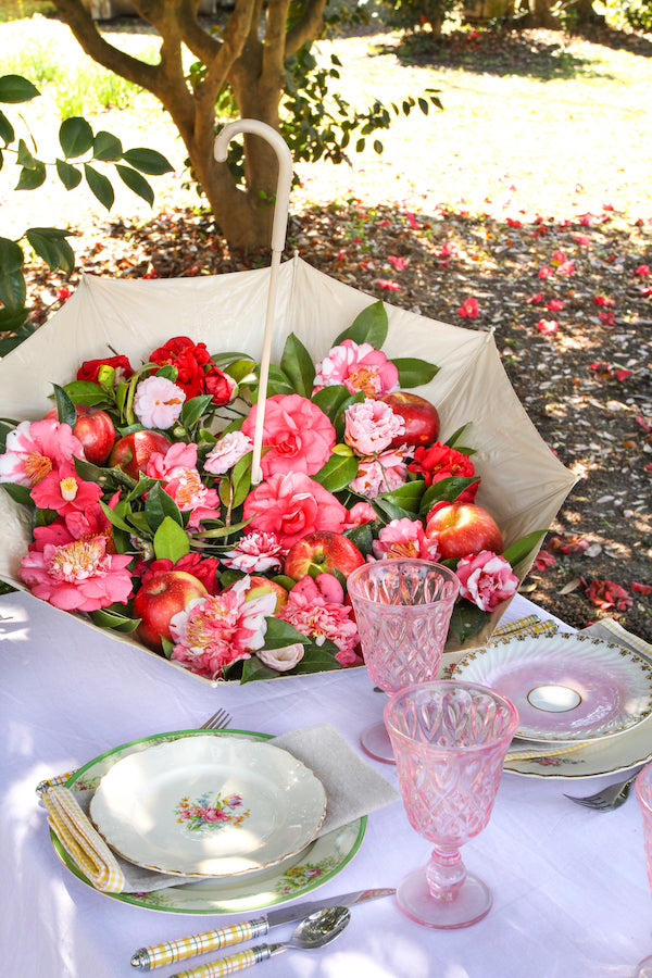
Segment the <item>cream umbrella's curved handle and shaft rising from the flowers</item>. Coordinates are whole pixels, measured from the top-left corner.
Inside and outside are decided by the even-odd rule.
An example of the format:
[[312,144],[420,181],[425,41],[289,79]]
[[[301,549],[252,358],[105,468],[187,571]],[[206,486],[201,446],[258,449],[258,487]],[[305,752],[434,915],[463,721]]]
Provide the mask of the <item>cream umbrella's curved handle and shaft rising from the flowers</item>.
[[256,118],[240,118],[227,123],[217,134],[214,146],[215,160],[218,163],[226,161],[227,146],[234,136],[240,133],[252,133],[265,139],[276,152],[278,158],[278,179],[276,184],[276,201],[274,204],[274,221],[272,224],[272,268],[269,273],[269,292],[267,296],[267,312],[265,315],[265,331],[263,335],[263,353],[261,356],[261,376],[259,378],[259,399],[255,415],[255,429],[253,435],[253,459],[251,463],[251,482],[258,486],[262,481],[261,453],[263,444],[263,426],[265,422],[265,400],[267,397],[267,380],[269,377],[269,361],[272,359],[272,334],[274,330],[274,311],[276,306],[277,271],[280,264],[280,255],[285,247],[286,230],[288,226],[288,206],[290,189],[292,186],[292,155],[283,136],[268,126],[267,123]]

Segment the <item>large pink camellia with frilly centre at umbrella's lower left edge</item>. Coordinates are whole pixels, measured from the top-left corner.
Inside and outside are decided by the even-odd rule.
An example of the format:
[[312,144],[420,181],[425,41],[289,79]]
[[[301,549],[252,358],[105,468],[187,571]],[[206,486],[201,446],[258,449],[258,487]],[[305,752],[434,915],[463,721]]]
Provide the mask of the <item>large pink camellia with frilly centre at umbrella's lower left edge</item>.
[[32,593],[64,611],[90,612],[131,594],[129,554],[108,553],[106,537],[75,539],[63,523],[37,526],[18,577]]

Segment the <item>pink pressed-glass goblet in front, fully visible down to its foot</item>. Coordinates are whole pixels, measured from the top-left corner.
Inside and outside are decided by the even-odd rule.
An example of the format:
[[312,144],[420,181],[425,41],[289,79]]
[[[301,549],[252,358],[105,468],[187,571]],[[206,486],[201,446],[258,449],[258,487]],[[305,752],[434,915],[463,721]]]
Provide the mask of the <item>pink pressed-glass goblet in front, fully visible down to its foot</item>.
[[489,912],[491,891],[466,872],[460,847],[489,822],[516,707],[487,687],[442,679],[394,693],[385,723],[410,825],[434,843],[428,865],[400,883],[399,906],[428,927],[467,927]]

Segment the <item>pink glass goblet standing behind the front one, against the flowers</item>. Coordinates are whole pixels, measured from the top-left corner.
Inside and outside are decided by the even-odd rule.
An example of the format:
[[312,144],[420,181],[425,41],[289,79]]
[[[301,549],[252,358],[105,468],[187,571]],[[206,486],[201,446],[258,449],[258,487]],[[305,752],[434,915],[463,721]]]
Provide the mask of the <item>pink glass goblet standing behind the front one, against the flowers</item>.
[[[358,567],[347,579],[367,672],[385,692],[435,679],[460,581],[430,561],[390,559]],[[363,749],[393,764],[385,724],[367,727]]]

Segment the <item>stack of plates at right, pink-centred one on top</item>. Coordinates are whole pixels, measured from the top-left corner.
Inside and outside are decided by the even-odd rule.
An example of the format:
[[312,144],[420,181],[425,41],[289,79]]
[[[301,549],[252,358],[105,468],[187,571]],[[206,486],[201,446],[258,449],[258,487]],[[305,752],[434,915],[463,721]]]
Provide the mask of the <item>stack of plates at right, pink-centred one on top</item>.
[[634,651],[584,635],[518,636],[471,652],[453,676],[518,710],[516,737],[540,756],[507,770],[587,777],[649,760],[652,664]]

